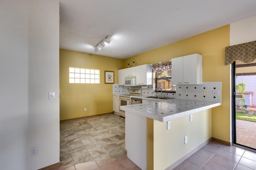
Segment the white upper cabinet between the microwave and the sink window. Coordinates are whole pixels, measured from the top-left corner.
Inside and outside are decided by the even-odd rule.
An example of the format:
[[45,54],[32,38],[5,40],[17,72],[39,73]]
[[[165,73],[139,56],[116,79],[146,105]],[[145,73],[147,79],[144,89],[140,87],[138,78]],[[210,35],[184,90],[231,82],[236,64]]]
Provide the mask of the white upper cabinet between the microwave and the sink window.
[[136,66],[136,85],[152,85],[152,68],[150,64]]

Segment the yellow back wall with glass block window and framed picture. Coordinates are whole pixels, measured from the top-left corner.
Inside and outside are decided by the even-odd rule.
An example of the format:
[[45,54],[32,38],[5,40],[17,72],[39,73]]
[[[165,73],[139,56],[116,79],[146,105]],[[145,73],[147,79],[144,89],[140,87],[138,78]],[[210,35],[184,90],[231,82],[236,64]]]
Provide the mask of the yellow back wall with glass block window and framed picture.
[[[114,71],[118,83],[122,65],[122,59],[60,49],[60,120],[112,112],[113,85],[104,83],[104,71]],[[70,84],[69,67],[100,69],[100,84]]]

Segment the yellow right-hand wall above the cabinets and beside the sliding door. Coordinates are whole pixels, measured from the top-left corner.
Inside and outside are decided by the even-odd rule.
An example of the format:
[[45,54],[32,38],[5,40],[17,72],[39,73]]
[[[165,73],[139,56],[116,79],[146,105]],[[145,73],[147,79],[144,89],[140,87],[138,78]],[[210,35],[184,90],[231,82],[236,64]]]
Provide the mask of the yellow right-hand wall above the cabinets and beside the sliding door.
[[198,53],[203,56],[203,82],[222,82],[222,106],[212,108],[212,137],[230,142],[230,66],[224,65],[230,44],[230,25],[172,43],[124,60],[150,64]]

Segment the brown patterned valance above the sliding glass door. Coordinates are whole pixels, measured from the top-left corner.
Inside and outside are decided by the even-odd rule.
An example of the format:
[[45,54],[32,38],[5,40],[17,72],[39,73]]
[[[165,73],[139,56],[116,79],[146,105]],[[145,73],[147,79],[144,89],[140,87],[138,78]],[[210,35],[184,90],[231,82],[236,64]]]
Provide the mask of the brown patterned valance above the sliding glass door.
[[239,60],[243,63],[251,63],[256,59],[256,41],[232,45],[225,48],[225,65]]

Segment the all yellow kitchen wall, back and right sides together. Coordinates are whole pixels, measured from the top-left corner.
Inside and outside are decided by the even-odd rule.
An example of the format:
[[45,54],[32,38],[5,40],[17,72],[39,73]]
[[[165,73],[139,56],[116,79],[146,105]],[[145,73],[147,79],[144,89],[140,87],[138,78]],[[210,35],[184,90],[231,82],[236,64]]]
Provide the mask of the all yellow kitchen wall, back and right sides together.
[[[230,42],[230,25],[208,31],[130,57],[114,59],[60,49],[60,120],[112,112],[112,84],[104,84],[104,70],[118,69],[169,60],[199,53],[203,56],[203,81],[222,82],[222,106],[212,108],[212,137],[230,142],[230,66],[224,66],[225,47]],[[68,67],[100,69],[100,84],[69,84]],[[84,112],[84,107],[87,107]]]

